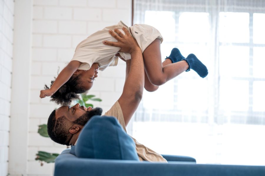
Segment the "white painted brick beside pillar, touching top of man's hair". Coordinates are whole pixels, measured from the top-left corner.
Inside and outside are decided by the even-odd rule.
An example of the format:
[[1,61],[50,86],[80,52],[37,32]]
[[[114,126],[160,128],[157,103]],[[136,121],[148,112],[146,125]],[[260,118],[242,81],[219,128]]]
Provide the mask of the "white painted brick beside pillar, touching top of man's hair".
[[[49,99],[49,97],[45,97]],[[55,105],[53,104],[31,104],[30,105],[30,117],[34,118],[48,118],[54,110]]]

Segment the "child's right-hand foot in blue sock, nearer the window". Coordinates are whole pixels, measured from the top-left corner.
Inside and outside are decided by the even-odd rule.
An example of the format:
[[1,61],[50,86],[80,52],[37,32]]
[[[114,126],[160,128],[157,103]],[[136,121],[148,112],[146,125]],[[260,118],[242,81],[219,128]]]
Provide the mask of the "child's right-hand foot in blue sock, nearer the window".
[[208,75],[208,70],[206,68],[205,65],[203,65],[203,63],[198,60],[198,58],[196,57],[196,55],[194,54],[189,54],[188,57],[185,60],[188,65],[189,68],[188,70],[186,70],[186,72],[190,71],[190,69],[194,70],[195,72],[198,73],[198,75],[200,75],[200,77],[204,78]]

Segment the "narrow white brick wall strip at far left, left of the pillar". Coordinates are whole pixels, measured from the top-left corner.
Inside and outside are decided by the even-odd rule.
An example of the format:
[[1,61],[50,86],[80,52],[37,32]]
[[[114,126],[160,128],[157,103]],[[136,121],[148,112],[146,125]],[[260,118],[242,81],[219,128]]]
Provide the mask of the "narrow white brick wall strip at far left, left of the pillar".
[[14,2],[0,0],[0,176],[8,174]]

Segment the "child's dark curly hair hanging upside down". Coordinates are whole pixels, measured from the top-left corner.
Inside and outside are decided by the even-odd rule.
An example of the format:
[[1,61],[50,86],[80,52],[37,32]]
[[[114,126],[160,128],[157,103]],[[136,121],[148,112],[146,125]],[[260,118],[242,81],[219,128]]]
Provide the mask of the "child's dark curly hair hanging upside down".
[[[72,75],[70,79],[51,96],[50,101],[54,101],[55,103],[64,106],[71,104],[74,99],[79,99],[80,97],[78,94],[87,91],[84,87],[82,87],[79,77],[79,75]],[[54,80],[51,81],[51,86],[55,79],[56,77],[54,77]],[[44,89],[49,89],[49,87],[45,84]]]

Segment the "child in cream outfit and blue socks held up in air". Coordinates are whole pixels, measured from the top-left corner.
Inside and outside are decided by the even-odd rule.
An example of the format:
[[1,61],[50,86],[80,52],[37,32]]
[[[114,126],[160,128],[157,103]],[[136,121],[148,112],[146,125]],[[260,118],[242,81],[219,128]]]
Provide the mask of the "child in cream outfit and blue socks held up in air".
[[[127,30],[126,30],[126,29]],[[123,30],[122,32],[119,30]],[[52,81],[51,88],[45,85],[40,97],[51,96],[57,104],[69,104],[72,99],[78,98],[79,93],[86,92],[92,85],[97,70],[105,70],[108,66],[116,66],[119,47],[109,46],[108,42],[117,41],[114,30],[119,35],[126,33],[132,35],[143,52],[145,64],[145,89],[153,92],[168,80],[178,76],[183,71],[190,69],[196,71],[201,77],[208,75],[208,70],[198,58],[190,54],[183,57],[177,48],[173,48],[169,57],[161,63],[160,43],[163,37],[160,32],[145,24],[135,24],[130,28],[122,21],[117,25],[109,26],[90,35],[77,45],[74,56],[69,64],[59,73],[56,80]],[[109,34],[111,33],[111,36]],[[102,43],[103,41],[103,43]],[[104,45],[105,44],[105,45]],[[119,53],[124,60],[130,59],[130,54]]]

